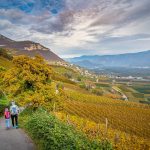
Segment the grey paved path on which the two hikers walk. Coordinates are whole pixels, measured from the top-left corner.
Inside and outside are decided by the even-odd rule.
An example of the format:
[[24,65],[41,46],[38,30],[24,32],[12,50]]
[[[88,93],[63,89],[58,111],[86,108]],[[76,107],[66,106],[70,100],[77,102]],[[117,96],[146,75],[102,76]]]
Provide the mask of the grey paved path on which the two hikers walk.
[[5,128],[5,120],[0,119],[0,150],[34,150],[31,139],[21,129]]

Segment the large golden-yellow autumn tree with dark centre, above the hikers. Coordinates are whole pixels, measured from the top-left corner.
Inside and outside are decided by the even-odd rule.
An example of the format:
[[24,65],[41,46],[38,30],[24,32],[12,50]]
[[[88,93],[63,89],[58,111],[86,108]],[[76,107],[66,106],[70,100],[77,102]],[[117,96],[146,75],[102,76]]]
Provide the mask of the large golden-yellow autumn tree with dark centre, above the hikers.
[[55,93],[52,82],[52,69],[40,56],[16,56],[14,67],[3,73],[2,88],[20,105],[31,105],[34,108],[43,106],[52,108],[58,103],[59,95]]

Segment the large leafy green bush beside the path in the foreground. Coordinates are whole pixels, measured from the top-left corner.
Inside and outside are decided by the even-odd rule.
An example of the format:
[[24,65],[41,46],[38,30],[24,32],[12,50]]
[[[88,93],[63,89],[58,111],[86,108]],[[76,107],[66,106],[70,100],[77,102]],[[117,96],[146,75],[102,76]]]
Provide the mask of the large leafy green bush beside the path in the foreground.
[[82,133],[77,132],[55,116],[40,110],[33,113],[26,123],[26,130],[38,141],[43,150],[109,150],[111,145],[90,141]]

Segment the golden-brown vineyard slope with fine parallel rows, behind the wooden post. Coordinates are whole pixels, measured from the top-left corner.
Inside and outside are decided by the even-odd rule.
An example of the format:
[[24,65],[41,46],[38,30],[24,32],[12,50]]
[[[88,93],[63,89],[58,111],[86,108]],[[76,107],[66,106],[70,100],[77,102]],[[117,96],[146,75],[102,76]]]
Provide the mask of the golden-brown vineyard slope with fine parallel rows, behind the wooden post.
[[105,123],[111,128],[150,139],[150,107],[134,102],[112,100],[106,97],[67,92],[69,100],[65,111],[96,123]]

